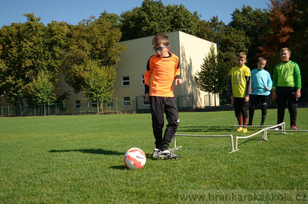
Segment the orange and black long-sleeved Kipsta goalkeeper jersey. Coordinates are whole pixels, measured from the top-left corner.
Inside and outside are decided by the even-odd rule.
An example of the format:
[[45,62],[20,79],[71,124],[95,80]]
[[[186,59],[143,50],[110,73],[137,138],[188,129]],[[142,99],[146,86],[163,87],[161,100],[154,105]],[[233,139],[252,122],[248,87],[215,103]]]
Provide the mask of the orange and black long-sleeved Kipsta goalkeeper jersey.
[[[173,80],[180,78],[179,58],[171,52],[168,54],[168,57],[163,58],[153,55],[148,60],[144,86],[145,93],[150,93],[150,96],[174,97]],[[151,75],[152,83],[149,92]]]

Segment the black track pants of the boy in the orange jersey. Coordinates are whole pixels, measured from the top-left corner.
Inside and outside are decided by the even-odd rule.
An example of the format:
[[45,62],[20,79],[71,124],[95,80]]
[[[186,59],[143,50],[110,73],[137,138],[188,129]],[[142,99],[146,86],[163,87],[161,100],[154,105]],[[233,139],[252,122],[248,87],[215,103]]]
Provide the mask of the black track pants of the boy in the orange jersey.
[[[150,106],[152,114],[152,127],[155,137],[155,145],[160,151],[168,149],[169,144],[179,126],[179,114],[177,112],[174,97],[150,96]],[[164,113],[168,121],[164,137]]]

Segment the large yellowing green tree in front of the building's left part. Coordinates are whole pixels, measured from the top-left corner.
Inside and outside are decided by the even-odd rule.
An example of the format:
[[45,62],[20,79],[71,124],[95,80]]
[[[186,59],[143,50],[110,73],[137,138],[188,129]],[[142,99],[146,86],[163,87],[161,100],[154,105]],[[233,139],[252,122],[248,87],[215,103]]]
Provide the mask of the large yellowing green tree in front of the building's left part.
[[[95,94],[104,96],[103,100],[110,99],[112,92],[108,91],[108,88],[113,86],[116,77],[115,64],[120,60],[121,51],[126,49],[119,43],[121,38],[119,28],[113,27],[105,18],[96,19],[91,16],[88,20],[83,19],[72,27],[71,35],[72,38],[68,42],[70,55],[63,60],[66,83],[75,93],[83,91],[88,99],[93,100]],[[94,94],[94,85],[88,84],[91,83],[91,79],[95,79],[93,75],[95,71],[100,77],[108,75],[100,78],[104,80],[100,83],[107,86],[104,88],[105,94],[101,92]]]

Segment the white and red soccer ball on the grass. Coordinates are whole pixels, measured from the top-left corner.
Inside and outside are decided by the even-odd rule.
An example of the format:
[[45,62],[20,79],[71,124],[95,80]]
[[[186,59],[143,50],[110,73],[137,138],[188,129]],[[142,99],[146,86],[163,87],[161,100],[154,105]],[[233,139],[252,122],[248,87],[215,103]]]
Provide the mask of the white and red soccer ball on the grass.
[[146,161],[145,153],[136,147],[128,149],[124,154],[124,164],[128,169],[141,169]]

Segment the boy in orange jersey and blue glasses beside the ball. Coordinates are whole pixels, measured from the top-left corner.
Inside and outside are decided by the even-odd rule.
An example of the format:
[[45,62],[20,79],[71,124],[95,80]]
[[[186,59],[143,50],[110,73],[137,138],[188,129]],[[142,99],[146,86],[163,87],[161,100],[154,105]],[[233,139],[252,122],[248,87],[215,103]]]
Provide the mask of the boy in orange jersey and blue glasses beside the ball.
[[[180,79],[179,58],[168,52],[169,37],[163,33],[155,35],[152,40],[155,55],[150,57],[144,74],[145,100],[150,102],[152,128],[156,148],[152,157],[178,159],[180,156],[172,153],[168,147],[179,126],[179,114],[173,95],[173,80],[175,85],[182,84]],[[152,83],[150,88],[150,80]],[[163,136],[164,113],[168,124]]]

